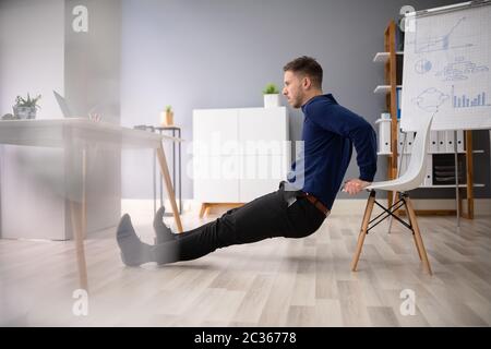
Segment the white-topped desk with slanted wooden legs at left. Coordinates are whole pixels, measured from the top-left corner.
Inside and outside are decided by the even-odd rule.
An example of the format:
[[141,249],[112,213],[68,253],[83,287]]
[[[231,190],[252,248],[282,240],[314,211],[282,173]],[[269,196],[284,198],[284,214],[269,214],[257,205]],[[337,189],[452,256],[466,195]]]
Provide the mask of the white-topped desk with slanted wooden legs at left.
[[75,240],[80,288],[88,291],[85,263],[84,237],[86,229],[85,174],[87,148],[108,146],[121,148],[153,148],[157,153],[160,172],[172,207],[179,232],[182,224],[176,204],[169,169],[161,142],[180,139],[149,133],[117,124],[89,119],[72,118],[56,120],[9,120],[0,121],[0,144],[61,147],[67,152],[70,180],[65,194],[70,202],[71,222]]

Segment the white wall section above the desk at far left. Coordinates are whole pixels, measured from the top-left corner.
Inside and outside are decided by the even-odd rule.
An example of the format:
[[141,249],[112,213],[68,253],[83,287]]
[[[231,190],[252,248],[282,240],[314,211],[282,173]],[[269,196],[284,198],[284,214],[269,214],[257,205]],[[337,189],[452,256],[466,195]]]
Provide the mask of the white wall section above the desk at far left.
[[0,1],[0,115],[17,95],[41,95],[38,118],[60,118],[64,92],[64,0]]

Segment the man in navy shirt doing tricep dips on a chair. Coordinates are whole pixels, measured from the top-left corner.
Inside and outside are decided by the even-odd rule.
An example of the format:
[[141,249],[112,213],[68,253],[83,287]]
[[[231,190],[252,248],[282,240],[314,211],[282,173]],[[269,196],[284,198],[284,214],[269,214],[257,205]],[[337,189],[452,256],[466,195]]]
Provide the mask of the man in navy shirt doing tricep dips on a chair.
[[282,181],[273,193],[179,234],[164,225],[161,207],[154,219],[155,245],[141,242],[130,217],[124,215],[117,229],[124,264],[189,261],[232,244],[277,237],[303,238],[313,233],[331,212],[351,158],[352,145],[358,154],[360,176],[345,182],[344,190],[356,194],[370,184],[376,171],[373,128],[339,106],[331,94],[323,95],[323,71],[314,59],[297,58],[284,67],[284,72],[283,94],[291,107],[301,107],[306,117],[303,157],[294,164],[288,181]]

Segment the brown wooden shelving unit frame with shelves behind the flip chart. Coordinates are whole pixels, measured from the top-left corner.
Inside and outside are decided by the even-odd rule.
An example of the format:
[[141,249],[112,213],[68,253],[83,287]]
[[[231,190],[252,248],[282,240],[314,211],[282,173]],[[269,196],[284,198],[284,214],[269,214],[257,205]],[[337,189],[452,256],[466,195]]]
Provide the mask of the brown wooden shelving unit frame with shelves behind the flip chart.
[[[375,94],[385,94],[386,108],[391,115],[391,152],[390,153],[378,153],[380,156],[387,156],[387,178],[395,179],[397,177],[398,167],[398,130],[397,130],[397,89],[403,88],[402,85],[397,85],[397,56],[403,56],[403,51],[396,51],[396,24],[391,21],[384,32],[384,52],[378,52],[373,58],[373,62],[384,63],[384,84],[375,87]],[[400,70],[402,71],[402,70]],[[465,189],[466,195],[465,201],[467,201],[467,212],[462,210],[463,200],[459,200],[459,212],[460,216],[464,218],[474,218],[474,188],[484,186],[484,184],[474,183],[474,154],[482,154],[483,151],[472,149],[472,133],[470,131],[465,131],[465,151],[459,152],[459,154],[465,154],[466,163],[466,183],[459,184],[459,189]],[[407,153],[405,153],[407,154]],[[429,153],[431,156],[434,154],[454,154],[454,153]],[[439,185],[421,185],[423,189],[434,189],[434,188],[454,188],[455,184],[439,184]],[[388,206],[393,203],[393,193],[387,193]],[[462,197],[462,195],[459,195]],[[397,197],[396,197],[397,201]],[[404,209],[396,212],[398,215],[405,215]],[[418,215],[456,215],[456,209],[417,209]]]

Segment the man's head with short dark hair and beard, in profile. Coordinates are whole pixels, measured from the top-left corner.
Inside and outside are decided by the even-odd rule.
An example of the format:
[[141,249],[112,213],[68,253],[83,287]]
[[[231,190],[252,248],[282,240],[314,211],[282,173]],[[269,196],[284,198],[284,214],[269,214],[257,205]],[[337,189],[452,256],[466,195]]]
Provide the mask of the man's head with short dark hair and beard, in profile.
[[313,58],[302,56],[283,68],[283,94],[294,108],[301,107],[310,98],[322,94],[322,67]]

